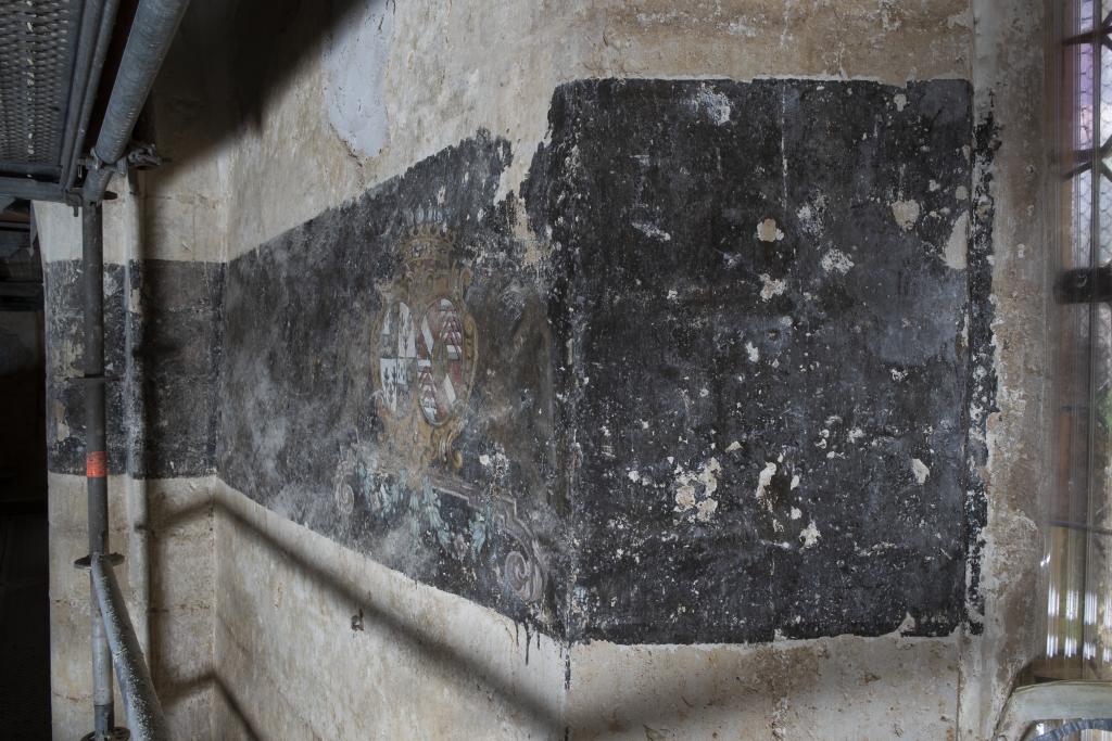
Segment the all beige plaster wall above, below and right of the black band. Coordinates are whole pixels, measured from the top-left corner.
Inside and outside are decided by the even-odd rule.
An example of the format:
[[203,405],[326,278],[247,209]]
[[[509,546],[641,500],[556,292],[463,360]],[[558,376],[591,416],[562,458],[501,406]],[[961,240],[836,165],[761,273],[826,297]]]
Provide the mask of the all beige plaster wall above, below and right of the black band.
[[[991,201],[984,201],[994,202],[996,214],[993,329],[1001,387],[981,467],[989,522],[983,635],[959,629],[935,639],[652,648],[562,648],[534,635],[526,661],[530,641],[508,619],[409,581],[212,483],[215,515],[202,514],[197,533],[182,531],[182,547],[208,542],[210,550],[205,555],[199,545],[189,561],[196,568],[186,571],[197,581],[170,592],[183,605],[191,594],[212,595],[182,608],[191,617],[179,623],[182,634],[188,628],[209,642],[193,641],[196,655],[182,660],[183,669],[165,670],[166,687],[176,688],[170,697],[177,692],[180,707],[196,711],[190,735],[208,728],[214,738],[560,738],[568,728],[576,738],[863,738],[864,727],[875,729],[875,738],[986,738],[1034,644],[1027,615],[1039,482],[1031,471],[1041,452],[1042,343],[1030,328],[1041,322],[1043,271],[1032,259],[1041,239],[1041,170],[1031,163],[1041,162],[1042,139],[1030,101],[1041,98],[1037,9],[954,0],[683,7],[421,0],[339,2],[325,13],[279,2],[268,6],[267,32],[256,34],[265,41],[232,50],[214,29],[231,20],[231,31],[241,31],[252,3],[221,4],[193,3],[156,91],[160,118],[172,127],[160,131],[160,143],[175,161],[140,179],[139,198],[125,192],[106,208],[113,262],[135,257],[129,244],[143,246],[139,257],[235,258],[478,129],[512,144],[498,197],[519,192],[545,141],[552,92],[576,79],[971,79],[975,121],[991,111],[1001,126],[985,194]],[[357,43],[340,30],[351,23],[366,31]],[[190,72],[197,50],[206,58],[200,76]],[[225,69],[228,80],[219,73]],[[350,83],[363,72],[380,100]],[[353,126],[360,106],[376,102],[374,120]],[[47,259],[76,258],[73,220],[57,217],[40,220],[44,243],[57,246]],[[135,483],[113,482],[117,497],[136,491]],[[148,481],[148,497],[161,485]],[[211,491],[209,483],[198,485]],[[78,514],[80,491],[79,479],[51,478],[52,529],[56,518],[83,522],[66,514]],[[141,504],[125,500],[113,509],[129,507]],[[120,522],[116,532],[135,542],[128,528]],[[206,541],[205,530],[214,528]],[[78,530],[52,534],[59,574],[83,543]],[[83,635],[80,585],[59,580],[52,582],[56,634]],[[353,630],[360,610],[364,629]],[[68,643],[56,641],[66,647],[53,672],[62,709],[56,728],[72,735],[71,729],[85,732],[79,713],[88,704],[88,647]],[[854,723],[841,720],[846,712],[856,715]]]

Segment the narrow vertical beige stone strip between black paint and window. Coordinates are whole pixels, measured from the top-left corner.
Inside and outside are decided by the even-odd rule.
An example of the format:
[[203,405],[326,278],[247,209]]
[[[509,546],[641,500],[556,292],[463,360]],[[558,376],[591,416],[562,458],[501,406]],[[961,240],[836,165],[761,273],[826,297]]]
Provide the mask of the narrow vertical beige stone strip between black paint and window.
[[[1048,6],[1049,8],[1049,6]],[[989,523],[981,563],[984,635],[962,645],[960,738],[990,738],[1016,673],[1045,644],[1039,561],[1051,485],[1053,414],[1046,344],[1049,248],[1053,211],[1045,199],[1046,128],[1042,3],[974,2],[974,90],[979,120],[1000,127],[991,176],[996,211],[993,303],[1000,411],[989,418]],[[974,202],[974,208],[984,203]]]

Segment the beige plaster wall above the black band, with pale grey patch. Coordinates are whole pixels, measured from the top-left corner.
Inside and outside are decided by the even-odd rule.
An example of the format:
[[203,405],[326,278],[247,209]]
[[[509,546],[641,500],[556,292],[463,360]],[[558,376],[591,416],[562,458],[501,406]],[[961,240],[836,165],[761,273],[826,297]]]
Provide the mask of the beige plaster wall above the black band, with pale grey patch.
[[[331,14],[278,3],[272,13],[286,18],[272,21],[277,38],[269,37],[265,49],[240,52],[265,61],[232,70],[232,98],[252,112],[252,124],[237,131],[231,148],[229,258],[478,129],[510,141],[514,162],[500,196],[519,192],[532,152],[547,131],[552,92],[572,80],[814,77],[903,84],[967,79],[972,63],[971,9],[960,0],[729,0],[682,8],[617,1],[340,2]],[[383,20],[381,32],[376,19]],[[369,33],[361,47],[337,58],[336,29],[342,24]],[[832,28],[838,32],[832,34]],[[334,39],[330,47],[311,40],[321,30]],[[274,71],[251,72],[262,66]],[[386,133],[377,153],[358,136],[339,136],[329,119],[330,111],[367,106],[366,88],[342,83],[359,70],[367,71],[367,87],[383,90],[381,110],[374,116],[385,112]]]

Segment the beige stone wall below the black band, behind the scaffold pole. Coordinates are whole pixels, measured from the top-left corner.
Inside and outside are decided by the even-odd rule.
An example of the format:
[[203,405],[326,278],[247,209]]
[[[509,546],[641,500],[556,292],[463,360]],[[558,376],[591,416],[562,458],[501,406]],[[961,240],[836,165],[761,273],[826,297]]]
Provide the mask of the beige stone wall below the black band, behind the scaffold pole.
[[[109,545],[125,557],[117,579],[168,721],[180,738],[207,738],[211,690],[189,682],[212,667],[212,484],[205,479],[130,484],[127,477],[109,477]],[[73,568],[89,552],[86,482],[51,474],[48,485],[51,722],[56,738],[80,738],[92,717],[89,577]],[[136,518],[138,493],[148,498],[149,527]],[[137,589],[147,581],[149,591]],[[120,698],[117,714],[123,717]]]

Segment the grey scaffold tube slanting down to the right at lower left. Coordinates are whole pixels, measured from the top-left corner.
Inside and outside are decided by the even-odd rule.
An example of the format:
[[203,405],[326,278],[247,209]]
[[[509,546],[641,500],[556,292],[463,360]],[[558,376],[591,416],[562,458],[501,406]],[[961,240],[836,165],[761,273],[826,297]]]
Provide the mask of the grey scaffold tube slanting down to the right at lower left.
[[120,683],[120,694],[128,712],[131,738],[139,741],[169,739],[166,715],[155,693],[155,682],[143,659],[142,649],[131,627],[123,594],[116,581],[108,557],[93,554],[90,559],[92,589],[97,595],[100,614],[112,652],[112,663]]

